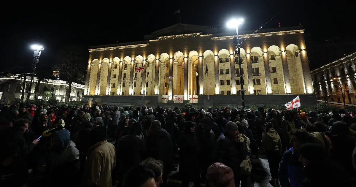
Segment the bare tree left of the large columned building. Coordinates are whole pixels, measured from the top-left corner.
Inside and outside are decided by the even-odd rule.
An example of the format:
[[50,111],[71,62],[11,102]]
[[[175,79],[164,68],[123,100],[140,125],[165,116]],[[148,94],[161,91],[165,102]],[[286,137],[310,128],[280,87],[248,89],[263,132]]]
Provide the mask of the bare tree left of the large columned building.
[[61,75],[68,78],[69,88],[66,93],[68,96],[66,97],[66,102],[69,102],[72,83],[85,81],[85,76],[83,74],[83,72],[85,72],[84,53],[80,47],[72,45],[65,48],[60,55],[61,61],[53,66],[53,70],[59,70]]

